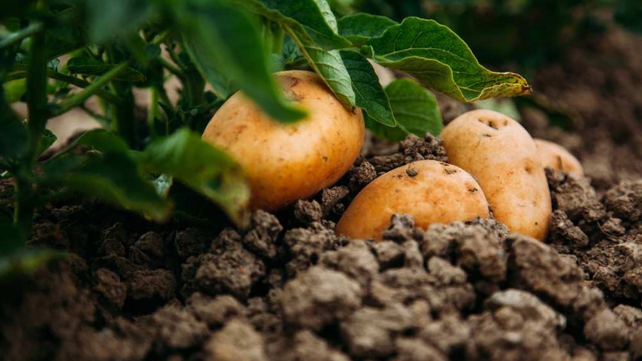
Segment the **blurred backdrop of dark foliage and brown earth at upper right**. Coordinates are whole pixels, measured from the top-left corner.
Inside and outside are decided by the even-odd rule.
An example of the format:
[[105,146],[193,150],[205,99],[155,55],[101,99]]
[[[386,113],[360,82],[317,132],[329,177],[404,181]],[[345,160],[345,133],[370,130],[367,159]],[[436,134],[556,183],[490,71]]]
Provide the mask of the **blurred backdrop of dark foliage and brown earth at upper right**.
[[[534,94],[473,105],[514,115],[534,137],[578,155],[593,185],[642,177],[642,1],[333,0],[337,15],[370,12],[446,24],[495,71]],[[444,120],[470,107],[439,97]]]

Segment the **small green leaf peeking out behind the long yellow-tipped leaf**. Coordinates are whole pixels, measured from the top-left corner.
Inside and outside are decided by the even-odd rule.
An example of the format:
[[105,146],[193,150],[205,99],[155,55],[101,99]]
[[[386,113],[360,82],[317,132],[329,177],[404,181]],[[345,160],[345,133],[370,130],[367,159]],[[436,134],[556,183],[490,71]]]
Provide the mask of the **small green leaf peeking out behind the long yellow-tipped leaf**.
[[354,46],[361,46],[368,40],[380,37],[390,26],[397,22],[381,15],[369,13],[356,13],[346,15],[339,19],[339,34],[352,42]]

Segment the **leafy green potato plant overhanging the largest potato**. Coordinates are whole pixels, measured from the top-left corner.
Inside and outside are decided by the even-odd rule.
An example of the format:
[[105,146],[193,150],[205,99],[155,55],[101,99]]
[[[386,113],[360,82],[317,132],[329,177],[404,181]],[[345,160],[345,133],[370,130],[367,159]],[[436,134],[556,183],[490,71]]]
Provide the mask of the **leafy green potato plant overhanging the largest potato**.
[[[481,66],[438,22],[337,18],[325,0],[3,1],[0,22],[0,177],[14,189],[0,208],[0,249],[13,261],[38,207],[69,193],[163,221],[182,211],[180,183],[242,225],[250,202],[243,159],[200,133],[236,91],[270,121],[309,119],[314,109],[288,100],[276,71],[314,71],[347,112],[361,110],[367,128],[393,140],[440,131],[426,88],[461,101],[530,92],[523,77]],[[384,88],[369,60],[413,80]],[[169,78],[180,82],[176,103]],[[150,94],[146,109],[135,101],[139,88]],[[17,101],[26,102],[26,119],[13,110]],[[45,153],[55,141],[48,119],[71,109],[102,128]],[[22,265],[44,257],[32,252]]]

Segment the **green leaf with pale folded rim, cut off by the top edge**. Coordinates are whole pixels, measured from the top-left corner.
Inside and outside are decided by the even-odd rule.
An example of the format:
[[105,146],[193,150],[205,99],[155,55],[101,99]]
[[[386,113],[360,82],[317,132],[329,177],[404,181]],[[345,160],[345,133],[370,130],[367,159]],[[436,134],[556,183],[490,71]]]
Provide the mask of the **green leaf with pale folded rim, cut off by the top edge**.
[[338,34],[336,18],[325,0],[232,0],[293,30],[305,42],[323,49],[347,48],[351,44]]

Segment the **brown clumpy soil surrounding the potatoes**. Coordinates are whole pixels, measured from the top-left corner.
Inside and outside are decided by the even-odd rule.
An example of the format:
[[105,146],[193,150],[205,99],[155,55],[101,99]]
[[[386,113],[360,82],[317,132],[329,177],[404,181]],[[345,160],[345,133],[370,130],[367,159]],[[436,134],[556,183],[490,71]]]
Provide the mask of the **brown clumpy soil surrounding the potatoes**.
[[[547,170],[546,242],[492,219],[422,230],[406,215],[383,242],[337,236],[334,222],[377,175],[447,161],[431,136],[369,139],[338,184],[257,211],[248,229],[150,224],[68,199],[40,211],[29,243],[70,256],[2,284],[1,358],[642,359],[641,41],[611,30],[534,78],[583,123],[551,128],[528,110],[524,124],[587,173]],[[440,104],[447,120],[467,109]]]

